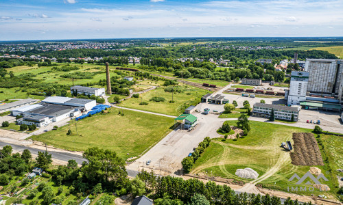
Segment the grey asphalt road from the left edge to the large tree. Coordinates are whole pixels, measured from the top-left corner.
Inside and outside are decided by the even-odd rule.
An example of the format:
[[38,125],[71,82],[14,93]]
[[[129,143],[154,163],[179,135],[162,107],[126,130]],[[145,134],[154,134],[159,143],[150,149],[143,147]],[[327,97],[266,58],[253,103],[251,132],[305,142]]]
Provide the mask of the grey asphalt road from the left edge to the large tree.
[[[30,148],[26,146],[18,146],[13,143],[5,143],[0,141],[0,147],[3,148],[4,146],[10,145],[12,146],[14,152],[23,152],[23,150],[27,149],[29,150],[32,154],[38,154],[38,151],[42,152],[44,150],[36,149],[36,148]],[[82,156],[79,156],[77,154],[71,154],[67,152],[56,152],[56,151],[49,151],[49,154],[51,154],[52,159],[57,159],[60,161],[69,161],[69,159],[75,159],[75,161],[78,164],[82,164],[83,161],[86,161],[85,159],[82,158]]]

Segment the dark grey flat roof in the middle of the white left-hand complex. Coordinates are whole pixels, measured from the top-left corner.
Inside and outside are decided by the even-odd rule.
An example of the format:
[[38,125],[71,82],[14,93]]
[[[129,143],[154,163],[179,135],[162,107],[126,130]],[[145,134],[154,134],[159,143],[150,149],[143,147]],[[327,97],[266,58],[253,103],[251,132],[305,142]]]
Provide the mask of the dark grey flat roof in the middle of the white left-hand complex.
[[[29,110],[28,113],[33,113],[36,115],[59,116],[75,109],[75,107],[73,106],[56,105],[56,104],[49,104],[45,102],[40,102],[39,105],[42,105],[42,107]],[[80,109],[81,108],[82,107],[80,107]]]

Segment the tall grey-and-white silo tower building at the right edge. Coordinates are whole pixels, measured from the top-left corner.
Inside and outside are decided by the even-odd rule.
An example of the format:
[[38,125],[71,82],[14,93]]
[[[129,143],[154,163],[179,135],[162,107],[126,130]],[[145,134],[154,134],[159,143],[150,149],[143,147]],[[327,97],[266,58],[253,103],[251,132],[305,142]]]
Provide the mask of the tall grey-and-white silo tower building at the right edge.
[[342,110],[343,61],[307,59],[305,72],[292,72],[285,98],[288,105],[305,109]]

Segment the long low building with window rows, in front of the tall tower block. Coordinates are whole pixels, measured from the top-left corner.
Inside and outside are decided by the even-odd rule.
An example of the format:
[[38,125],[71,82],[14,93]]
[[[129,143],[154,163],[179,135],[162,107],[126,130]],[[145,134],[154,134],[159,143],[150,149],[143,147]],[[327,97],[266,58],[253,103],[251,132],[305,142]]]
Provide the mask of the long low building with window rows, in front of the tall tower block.
[[273,109],[274,109],[275,119],[290,121],[292,120],[292,115],[293,115],[294,121],[298,121],[298,117],[299,117],[298,107],[271,105],[271,104],[265,104],[265,103],[255,103],[254,107],[252,108],[252,116],[269,118],[270,113],[272,113]]

